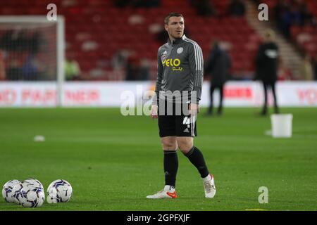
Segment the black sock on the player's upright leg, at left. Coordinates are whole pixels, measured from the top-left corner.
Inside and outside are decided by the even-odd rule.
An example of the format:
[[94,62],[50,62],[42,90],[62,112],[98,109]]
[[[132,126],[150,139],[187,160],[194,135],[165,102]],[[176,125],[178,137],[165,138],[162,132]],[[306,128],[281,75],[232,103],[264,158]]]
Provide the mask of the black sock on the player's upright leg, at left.
[[165,185],[175,187],[178,172],[178,153],[175,150],[164,150]]

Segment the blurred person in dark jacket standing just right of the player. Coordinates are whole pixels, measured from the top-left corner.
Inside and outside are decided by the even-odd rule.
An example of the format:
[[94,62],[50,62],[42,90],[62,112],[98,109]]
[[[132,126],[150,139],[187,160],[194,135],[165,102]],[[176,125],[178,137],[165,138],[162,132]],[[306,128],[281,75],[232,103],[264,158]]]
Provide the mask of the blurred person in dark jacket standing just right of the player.
[[207,115],[213,114],[213,91],[219,89],[219,107],[218,115],[223,112],[223,87],[228,76],[231,65],[230,56],[224,50],[220,49],[218,41],[213,42],[213,48],[206,63],[206,74],[210,76],[210,105]]

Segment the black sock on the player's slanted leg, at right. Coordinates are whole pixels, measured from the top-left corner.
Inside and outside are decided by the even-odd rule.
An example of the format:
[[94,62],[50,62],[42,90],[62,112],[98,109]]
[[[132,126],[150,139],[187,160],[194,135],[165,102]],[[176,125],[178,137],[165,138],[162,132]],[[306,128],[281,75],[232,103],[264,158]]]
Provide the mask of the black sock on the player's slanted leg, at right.
[[202,155],[201,151],[198,148],[196,148],[195,146],[192,147],[192,149],[189,150],[189,152],[185,154],[185,156],[198,169],[199,174],[202,178],[209,175],[209,171],[204,160],[204,155]]

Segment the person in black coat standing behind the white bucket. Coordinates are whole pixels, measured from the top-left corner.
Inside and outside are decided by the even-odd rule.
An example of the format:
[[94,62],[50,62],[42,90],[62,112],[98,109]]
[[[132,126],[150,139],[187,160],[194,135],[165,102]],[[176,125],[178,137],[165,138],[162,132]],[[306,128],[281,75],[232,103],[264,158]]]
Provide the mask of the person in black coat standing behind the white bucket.
[[278,79],[278,45],[274,42],[275,33],[268,30],[264,37],[264,43],[259,46],[256,56],[256,77],[263,83],[264,103],[261,115],[268,113],[268,89],[271,88],[274,98],[274,112],[278,113],[276,101],[275,83]]

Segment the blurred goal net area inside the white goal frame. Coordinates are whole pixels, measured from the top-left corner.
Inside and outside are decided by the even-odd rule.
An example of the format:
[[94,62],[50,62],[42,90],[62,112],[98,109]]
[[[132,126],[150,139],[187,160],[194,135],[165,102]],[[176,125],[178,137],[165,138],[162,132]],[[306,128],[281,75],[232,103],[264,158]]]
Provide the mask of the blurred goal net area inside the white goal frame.
[[2,79],[56,80],[57,23],[24,19],[0,20]]

